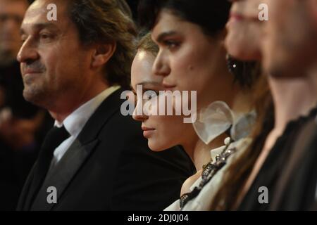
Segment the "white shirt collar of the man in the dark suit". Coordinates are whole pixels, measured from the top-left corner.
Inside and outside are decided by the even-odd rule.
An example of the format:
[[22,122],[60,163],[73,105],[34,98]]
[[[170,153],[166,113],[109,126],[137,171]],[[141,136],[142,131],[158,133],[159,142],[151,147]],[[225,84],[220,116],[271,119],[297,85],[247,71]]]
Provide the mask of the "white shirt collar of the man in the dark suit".
[[85,127],[86,122],[92,116],[92,114],[99,108],[101,103],[108,98],[113,92],[120,89],[120,86],[111,86],[108,89],[105,89],[100,94],[87,101],[87,103],[77,108],[73,113],[68,115],[66,119],[60,123],[57,120],[55,121],[56,127],[63,127],[68,131],[71,136],[77,137],[80,134],[80,131]]

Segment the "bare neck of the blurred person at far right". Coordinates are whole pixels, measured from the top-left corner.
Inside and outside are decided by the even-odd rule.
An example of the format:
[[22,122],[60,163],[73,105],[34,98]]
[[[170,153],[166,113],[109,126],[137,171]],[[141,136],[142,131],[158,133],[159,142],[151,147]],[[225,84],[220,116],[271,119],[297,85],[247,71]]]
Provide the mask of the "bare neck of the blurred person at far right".
[[275,105],[275,127],[273,131],[282,134],[291,120],[307,115],[316,106],[317,75],[297,79],[275,79],[269,77]]

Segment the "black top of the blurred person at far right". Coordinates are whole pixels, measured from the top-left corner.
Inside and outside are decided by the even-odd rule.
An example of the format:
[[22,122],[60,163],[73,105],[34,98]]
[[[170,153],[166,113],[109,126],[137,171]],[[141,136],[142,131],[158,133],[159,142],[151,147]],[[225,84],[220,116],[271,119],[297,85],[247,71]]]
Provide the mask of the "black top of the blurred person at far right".
[[[315,120],[316,114],[315,108],[308,116],[299,117],[287,124],[238,210],[310,210],[313,207],[317,182],[316,140],[312,138],[311,143],[300,145],[297,141],[300,141],[299,135],[304,127],[311,120]],[[294,148],[295,143],[297,148]],[[303,150],[299,160],[295,160],[297,163],[292,166],[290,179],[285,181],[287,185],[280,190],[280,180],[290,170],[289,162],[294,160],[292,155],[298,151],[298,147],[307,150]],[[277,196],[279,196],[278,199]]]

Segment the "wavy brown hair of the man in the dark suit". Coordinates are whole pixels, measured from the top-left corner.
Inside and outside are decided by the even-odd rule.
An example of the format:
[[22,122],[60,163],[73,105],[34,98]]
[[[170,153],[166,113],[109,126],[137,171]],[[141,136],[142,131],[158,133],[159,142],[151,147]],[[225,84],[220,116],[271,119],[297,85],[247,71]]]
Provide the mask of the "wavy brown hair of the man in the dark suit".
[[68,0],[70,20],[83,45],[116,43],[116,51],[105,65],[108,84],[128,88],[135,51],[135,24],[125,0]]

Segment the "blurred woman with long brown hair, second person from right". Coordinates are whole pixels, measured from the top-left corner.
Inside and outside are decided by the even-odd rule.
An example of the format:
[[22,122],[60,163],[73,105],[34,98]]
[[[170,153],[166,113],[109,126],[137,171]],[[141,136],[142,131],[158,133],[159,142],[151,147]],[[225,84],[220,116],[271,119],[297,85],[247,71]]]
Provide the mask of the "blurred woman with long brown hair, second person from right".
[[[254,166],[274,123],[271,91],[265,72],[261,71],[261,40],[263,38],[262,26],[264,25],[258,18],[258,8],[261,0],[231,2],[232,7],[230,19],[227,23],[228,34],[225,38],[225,47],[235,68],[242,65],[242,68],[248,71],[245,77],[259,76],[259,80],[254,84],[252,99],[257,119],[250,136],[253,140],[251,145],[243,153],[240,153],[225,171],[222,185],[211,200],[209,210],[236,209],[236,202],[241,198],[240,190],[249,176],[249,172]],[[251,65],[251,68],[247,65]],[[235,68],[232,68],[232,70],[239,72]]]

